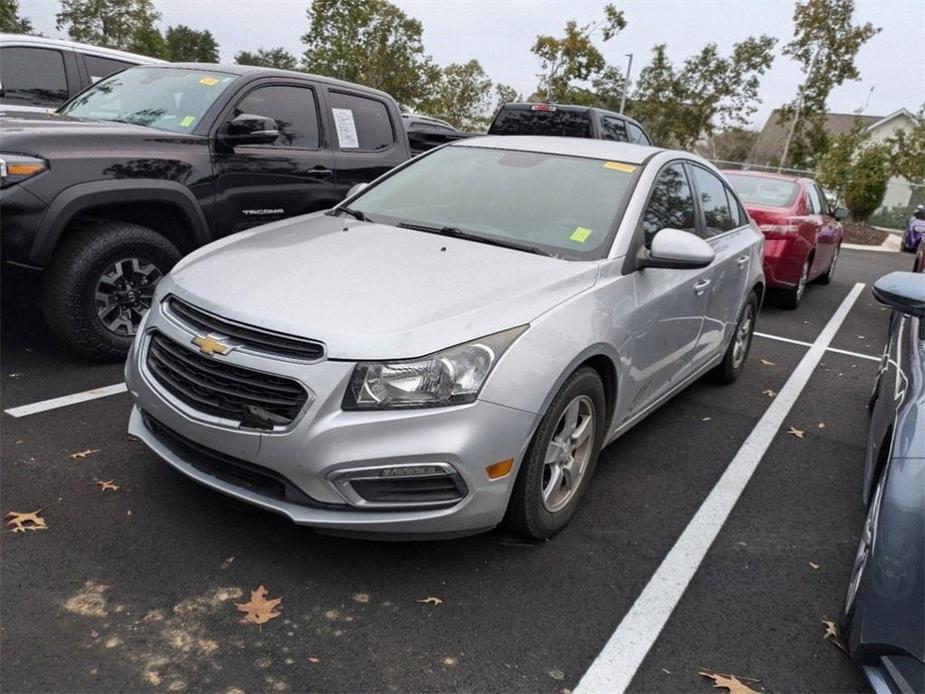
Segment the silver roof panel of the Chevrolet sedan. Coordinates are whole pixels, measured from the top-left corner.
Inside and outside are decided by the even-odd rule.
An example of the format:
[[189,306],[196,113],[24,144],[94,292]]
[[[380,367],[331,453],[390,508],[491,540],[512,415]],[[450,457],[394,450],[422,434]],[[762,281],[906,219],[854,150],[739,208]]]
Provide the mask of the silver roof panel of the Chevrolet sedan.
[[[563,154],[573,157],[587,157],[588,159],[622,161],[628,164],[642,164],[659,152],[669,151],[661,147],[634,145],[629,142],[594,140],[586,137],[556,137],[552,135],[485,135],[457,140],[449,146]],[[687,152],[678,152],[677,154],[693,161],[700,160],[699,157]]]

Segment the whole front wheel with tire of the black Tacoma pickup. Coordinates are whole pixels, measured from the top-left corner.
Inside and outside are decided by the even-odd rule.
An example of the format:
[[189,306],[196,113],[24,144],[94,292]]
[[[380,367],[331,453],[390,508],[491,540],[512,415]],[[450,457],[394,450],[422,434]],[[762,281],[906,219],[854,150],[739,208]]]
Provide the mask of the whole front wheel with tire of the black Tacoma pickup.
[[151,229],[101,222],[69,233],[42,274],[42,312],[70,349],[123,359],[154,287],[180,252]]

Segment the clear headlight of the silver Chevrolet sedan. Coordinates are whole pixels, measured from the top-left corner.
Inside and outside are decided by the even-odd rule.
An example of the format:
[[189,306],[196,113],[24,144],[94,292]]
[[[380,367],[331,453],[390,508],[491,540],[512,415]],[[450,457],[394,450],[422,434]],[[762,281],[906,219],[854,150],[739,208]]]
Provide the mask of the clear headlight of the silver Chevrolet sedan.
[[420,359],[360,362],[343,408],[392,410],[473,402],[492,367],[526,329],[511,328]]

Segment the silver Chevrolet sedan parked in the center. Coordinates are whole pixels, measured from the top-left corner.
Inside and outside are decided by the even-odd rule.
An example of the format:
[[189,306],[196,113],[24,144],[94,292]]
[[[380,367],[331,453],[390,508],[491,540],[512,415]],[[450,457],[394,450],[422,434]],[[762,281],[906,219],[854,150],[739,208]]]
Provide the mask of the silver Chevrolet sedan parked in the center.
[[761,266],[694,155],[455,142],[182,260],[129,354],[129,431],[329,532],[548,537],[603,446],[700,376],[736,378]]

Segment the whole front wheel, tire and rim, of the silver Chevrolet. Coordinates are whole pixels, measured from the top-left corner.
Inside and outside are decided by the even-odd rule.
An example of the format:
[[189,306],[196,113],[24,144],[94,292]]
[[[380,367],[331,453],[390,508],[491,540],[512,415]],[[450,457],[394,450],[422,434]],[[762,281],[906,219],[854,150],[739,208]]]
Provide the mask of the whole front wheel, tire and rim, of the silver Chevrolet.
[[571,520],[594,474],[607,429],[601,378],[583,367],[559,389],[521,463],[504,526],[537,540]]

